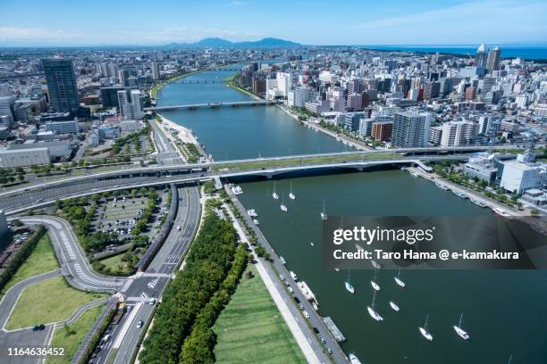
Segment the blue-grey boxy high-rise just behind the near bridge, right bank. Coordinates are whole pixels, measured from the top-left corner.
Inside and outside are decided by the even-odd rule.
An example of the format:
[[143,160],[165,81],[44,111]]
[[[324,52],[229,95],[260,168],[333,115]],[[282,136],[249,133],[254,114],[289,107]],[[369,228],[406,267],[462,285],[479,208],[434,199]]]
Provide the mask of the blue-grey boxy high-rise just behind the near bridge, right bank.
[[391,143],[400,148],[428,145],[432,116],[428,112],[397,112],[393,121]]

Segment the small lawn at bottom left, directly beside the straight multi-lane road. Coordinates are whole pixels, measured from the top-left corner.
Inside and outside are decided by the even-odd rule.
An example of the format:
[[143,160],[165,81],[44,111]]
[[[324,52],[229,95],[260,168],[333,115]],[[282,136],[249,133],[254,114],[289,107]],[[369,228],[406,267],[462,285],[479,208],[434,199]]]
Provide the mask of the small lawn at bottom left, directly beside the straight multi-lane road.
[[51,347],[64,348],[64,355],[62,357],[48,357],[47,364],[71,363],[72,357],[78,350],[81,341],[88,334],[88,331],[104,308],[105,304],[92,307],[86,310],[71,326],[56,328]]

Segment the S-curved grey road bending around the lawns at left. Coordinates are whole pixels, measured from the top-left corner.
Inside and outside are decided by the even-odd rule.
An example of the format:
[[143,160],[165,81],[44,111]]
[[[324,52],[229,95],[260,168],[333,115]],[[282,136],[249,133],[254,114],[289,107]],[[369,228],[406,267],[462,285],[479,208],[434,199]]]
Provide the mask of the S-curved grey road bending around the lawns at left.
[[83,252],[70,224],[52,216],[31,216],[20,219],[25,224],[47,227],[47,233],[54,245],[55,255],[61,262],[61,271],[68,281],[84,291],[113,293],[123,289],[127,278],[114,278],[98,275],[89,267],[88,259]]

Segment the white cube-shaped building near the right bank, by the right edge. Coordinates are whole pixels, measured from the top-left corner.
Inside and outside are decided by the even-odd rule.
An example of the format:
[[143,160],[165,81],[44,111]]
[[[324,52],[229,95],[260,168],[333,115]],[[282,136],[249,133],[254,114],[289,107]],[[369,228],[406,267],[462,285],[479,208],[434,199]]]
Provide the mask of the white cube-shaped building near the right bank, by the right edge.
[[522,194],[528,188],[541,185],[541,168],[536,164],[521,161],[506,161],[503,163],[500,186],[510,193]]

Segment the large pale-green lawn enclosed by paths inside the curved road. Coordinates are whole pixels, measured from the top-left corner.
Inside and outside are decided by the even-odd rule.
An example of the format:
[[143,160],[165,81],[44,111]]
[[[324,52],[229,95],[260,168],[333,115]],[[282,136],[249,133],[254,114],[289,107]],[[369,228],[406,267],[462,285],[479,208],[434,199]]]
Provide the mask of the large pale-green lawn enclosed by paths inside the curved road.
[[22,292],[5,327],[13,330],[62,321],[70,318],[82,304],[104,296],[78,291],[68,285],[63,277],[47,279],[29,285]]

